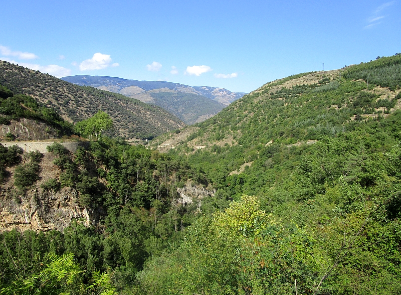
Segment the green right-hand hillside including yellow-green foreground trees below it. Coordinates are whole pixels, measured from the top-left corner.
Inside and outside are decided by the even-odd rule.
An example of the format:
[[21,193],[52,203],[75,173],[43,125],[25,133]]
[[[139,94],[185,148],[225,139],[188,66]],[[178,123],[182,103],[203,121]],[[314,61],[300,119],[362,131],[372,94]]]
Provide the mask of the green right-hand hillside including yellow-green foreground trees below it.
[[159,138],[206,174],[216,206],[240,203],[149,262],[141,291],[399,293],[400,68],[397,55],[273,81]]

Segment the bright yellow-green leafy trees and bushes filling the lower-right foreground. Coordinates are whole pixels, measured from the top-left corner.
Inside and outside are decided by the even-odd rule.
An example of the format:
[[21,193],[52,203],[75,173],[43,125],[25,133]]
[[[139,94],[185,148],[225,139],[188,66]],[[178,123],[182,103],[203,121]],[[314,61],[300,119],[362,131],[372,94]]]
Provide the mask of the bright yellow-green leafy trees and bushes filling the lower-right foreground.
[[198,220],[177,250],[148,262],[136,293],[397,294],[401,228],[377,220],[379,206],[300,228],[243,196]]

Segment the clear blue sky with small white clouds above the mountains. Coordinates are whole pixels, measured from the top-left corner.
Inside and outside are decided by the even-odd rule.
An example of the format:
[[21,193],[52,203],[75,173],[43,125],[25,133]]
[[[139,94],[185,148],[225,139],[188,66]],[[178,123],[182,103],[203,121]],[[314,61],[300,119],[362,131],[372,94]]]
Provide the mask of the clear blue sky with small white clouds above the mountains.
[[401,52],[399,1],[0,0],[0,59],[250,92]]

